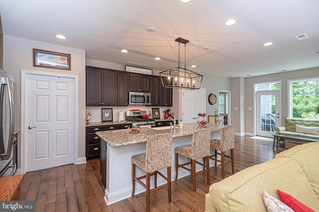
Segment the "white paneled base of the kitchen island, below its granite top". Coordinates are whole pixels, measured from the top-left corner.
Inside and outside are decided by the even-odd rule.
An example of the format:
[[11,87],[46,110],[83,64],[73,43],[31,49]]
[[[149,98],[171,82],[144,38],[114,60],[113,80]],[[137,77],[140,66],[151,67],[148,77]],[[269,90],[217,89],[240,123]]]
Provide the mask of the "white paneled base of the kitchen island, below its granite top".
[[[155,131],[155,130],[154,130]],[[157,133],[160,133],[157,131]],[[162,132],[163,133],[163,132]],[[97,133],[98,134],[98,133]],[[99,135],[99,134],[98,134]],[[99,135],[100,136],[100,135]],[[101,137],[101,136],[100,136]],[[102,138],[102,137],[101,137]],[[212,131],[211,139],[220,139],[220,130]],[[172,165],[171,165],[171,179],[175,180],[175,153],[174,148],[176,146],[191,144],[192,135],[174,137],[172,143]],[[133,155],[146,152],[146,142],[139,142],[129,145],[112,146],[109,142],[101,139],[101,170],[102,169],[102,154],[104,154],[104,161],[106,163],[105,177],[105,202],[107,205],[119,202],[132,196],[132,162]],[[211,150],[212,153],[212,150]],[[180,163],[186,163],[188,158],[179,155],[178,161]],[[198,159],[199,162],[203,162],[202,159]],[[210,161],[210,167],[214,166],[214,162]],[[196,172],[202,170],[202,166],[196,164]],[[166,169],[161,170],[166,176]],[[136,169],[136,175],[145,175],[145,172],[138,168]],[[184,169],[178,169],[178,179],[190,175],[190,172]],[[103,179],[102,179],[103,181]],[[158,175],[158,185],[164,184],[165,180]],[[151,178],[151,185],[154,187],[154,177]],[[135,195],[145,192],[145,188],[140,184],[136,184]]]

